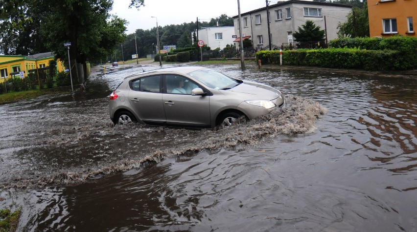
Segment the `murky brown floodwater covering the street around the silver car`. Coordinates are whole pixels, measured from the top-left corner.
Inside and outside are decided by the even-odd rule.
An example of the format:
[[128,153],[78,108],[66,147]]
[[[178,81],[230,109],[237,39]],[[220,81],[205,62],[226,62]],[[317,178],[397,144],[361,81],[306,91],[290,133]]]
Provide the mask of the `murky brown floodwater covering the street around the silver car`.
[[210,66],[287,107],[221,130],[114,127],[108,95],[0,105],[0,208],[19,231],[417,231],[417,80]]

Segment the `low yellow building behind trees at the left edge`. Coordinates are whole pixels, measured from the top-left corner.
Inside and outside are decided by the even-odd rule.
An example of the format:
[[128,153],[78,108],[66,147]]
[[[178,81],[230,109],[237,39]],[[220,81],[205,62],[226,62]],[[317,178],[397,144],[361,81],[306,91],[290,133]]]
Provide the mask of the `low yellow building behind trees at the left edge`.
[[[0,55],[0,83],[15,76],[26,77],[29,70],[47,67],[49,61],[55,59],[52,52],[39,53],[30,56],[4,56]],[[57,61],[59,72],[64,71],[64,64]]]

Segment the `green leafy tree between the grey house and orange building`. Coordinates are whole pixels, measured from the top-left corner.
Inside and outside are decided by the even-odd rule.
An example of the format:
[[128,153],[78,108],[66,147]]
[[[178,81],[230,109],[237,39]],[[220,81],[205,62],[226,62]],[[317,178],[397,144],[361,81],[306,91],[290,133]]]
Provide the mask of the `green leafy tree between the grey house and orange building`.
[[363,8],[353,7],[352,11],[347,14],[347,21],[339,22],[337,35],[342,37],[369,37],[369,18],[368,7],[364,4]]

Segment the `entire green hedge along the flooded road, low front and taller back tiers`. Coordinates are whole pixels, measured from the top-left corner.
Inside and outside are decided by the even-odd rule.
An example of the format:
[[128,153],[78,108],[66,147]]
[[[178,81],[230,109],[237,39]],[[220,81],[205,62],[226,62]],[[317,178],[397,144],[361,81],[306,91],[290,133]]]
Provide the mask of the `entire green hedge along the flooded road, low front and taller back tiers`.
[[[283,64],[365,70],[417,68],[417,38],[345,38],[329,43],[327,49],[284,50]],[[279,64],[278,51],[259,51],[256,60]]]

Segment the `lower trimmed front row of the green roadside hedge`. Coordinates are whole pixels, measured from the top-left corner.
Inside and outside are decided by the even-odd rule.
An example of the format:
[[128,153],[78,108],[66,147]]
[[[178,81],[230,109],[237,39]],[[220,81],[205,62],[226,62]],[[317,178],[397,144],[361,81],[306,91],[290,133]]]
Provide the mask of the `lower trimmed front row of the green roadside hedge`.
[[[279,64],[278,51],[260,51],[256,60],[263,64]],[[326,68],[354,68],[365,70],[402,69],[402,53],[394,50],[362,50],[357,48],[328,48],[291,50],[282,52],[282,63],[288,65]]]

